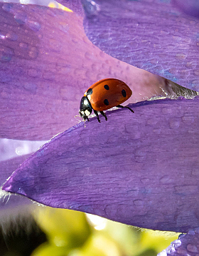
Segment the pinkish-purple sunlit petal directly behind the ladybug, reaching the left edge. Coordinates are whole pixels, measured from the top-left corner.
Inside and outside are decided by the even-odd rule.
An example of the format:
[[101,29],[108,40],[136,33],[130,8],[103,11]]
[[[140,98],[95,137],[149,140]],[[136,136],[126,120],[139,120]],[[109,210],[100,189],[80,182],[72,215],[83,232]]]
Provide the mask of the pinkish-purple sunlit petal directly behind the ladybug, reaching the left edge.
[[159,78],[93,46],[75,13],[1,3],[0,27],[1,138],[46,140],[75,125],[80,98],[102,78],[129,84],[131,102],[160,92]]

